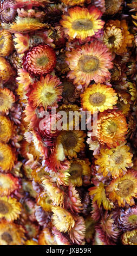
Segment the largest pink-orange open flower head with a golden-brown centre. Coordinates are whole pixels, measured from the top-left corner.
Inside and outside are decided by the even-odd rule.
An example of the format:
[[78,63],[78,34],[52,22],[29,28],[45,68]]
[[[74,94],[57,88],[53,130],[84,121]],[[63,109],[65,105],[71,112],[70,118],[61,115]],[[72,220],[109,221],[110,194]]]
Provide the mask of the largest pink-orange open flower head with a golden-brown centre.
[[102,83],[110,78],[108,69],[112,68],[112,57],[108,48],[100,41],[93,41],[66,53],[70,72],[68,77],[74,83],[88,84],[94,80]]

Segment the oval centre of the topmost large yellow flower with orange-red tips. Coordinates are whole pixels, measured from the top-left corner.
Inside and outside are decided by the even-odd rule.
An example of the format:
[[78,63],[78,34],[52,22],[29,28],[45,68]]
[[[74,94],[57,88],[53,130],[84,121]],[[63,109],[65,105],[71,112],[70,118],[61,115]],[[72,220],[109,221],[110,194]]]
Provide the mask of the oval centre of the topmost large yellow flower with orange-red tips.
[[88,19],[78,19],[72,23],[72,28],[76,31],[88,31],[93,29],[93,22]]

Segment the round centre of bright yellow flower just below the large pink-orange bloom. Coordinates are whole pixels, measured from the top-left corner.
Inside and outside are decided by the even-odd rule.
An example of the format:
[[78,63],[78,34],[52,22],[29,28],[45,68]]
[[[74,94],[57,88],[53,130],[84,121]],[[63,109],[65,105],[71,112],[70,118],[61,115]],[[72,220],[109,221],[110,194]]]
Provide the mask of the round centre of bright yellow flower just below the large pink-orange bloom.
[[93,106],[101,106],[106,100],[106,96],[101,93],[94,93],[89,96],[89,102]]

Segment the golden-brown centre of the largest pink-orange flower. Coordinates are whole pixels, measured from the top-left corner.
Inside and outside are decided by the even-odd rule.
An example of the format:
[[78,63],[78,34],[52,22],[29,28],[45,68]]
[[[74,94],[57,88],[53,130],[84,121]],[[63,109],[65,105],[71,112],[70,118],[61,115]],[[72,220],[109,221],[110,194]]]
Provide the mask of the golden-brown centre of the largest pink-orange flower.
[[85,73],[91,73],[99,68],[99,59],[95,56],[85,55],[79,59],[78,66]]

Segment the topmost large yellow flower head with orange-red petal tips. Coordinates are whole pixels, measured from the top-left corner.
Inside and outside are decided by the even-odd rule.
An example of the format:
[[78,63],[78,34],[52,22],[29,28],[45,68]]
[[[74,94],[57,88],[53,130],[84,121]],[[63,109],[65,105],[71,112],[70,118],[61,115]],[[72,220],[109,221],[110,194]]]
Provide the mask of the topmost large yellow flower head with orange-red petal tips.
[[86,39],[93,36],[103,28],[104,22],[100,19],[101,11],[97,8],[88,10],[84,7],[73,7],[68,13],[62,15],[61,25],[64,33],[69,35],[71,40]]

